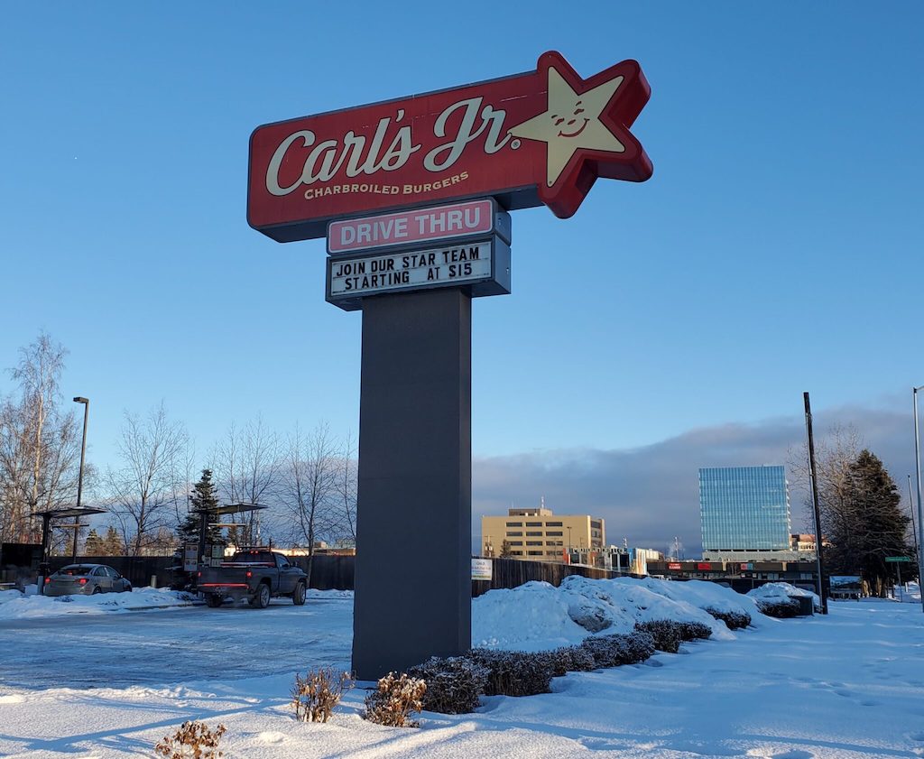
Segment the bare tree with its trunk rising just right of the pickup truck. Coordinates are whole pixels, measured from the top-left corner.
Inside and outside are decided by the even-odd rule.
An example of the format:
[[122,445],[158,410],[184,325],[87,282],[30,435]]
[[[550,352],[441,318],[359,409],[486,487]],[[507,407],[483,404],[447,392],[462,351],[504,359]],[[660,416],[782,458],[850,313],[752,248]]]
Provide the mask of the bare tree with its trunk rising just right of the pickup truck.
[[315,547],[338,521],[337,504],[342,471],[341,449],[330,428],[318,424],[310,435],[296,427],[288,437],[282,496],[292,516],[292,540],[308,548],[308,581]]

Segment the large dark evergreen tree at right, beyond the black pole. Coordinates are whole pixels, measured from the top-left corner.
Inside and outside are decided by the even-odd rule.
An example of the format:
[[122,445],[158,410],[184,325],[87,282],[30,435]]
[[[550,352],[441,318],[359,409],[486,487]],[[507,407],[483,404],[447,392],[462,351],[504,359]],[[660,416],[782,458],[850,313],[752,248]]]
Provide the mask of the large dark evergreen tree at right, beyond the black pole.
[[857,574],[869,593],[883,596],[895,580],[895,565],[885,557],[912,555],[906,533],[909,518],[900,508],[902,496],[882,462],[866,448],[851,462],[843,498],[829,509],[825,550],[831,574]]

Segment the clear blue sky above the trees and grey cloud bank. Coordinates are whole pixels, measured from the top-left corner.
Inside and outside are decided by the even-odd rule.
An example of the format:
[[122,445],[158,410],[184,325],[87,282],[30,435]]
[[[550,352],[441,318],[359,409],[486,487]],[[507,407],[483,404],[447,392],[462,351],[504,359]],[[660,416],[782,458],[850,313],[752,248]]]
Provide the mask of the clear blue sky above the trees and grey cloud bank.
[[477,458],[759,428],[804,390],[832,420],[906,409],[924,383],[922,6],[447,7],[4,8],[0,365],[40,329],[64,343],[98,463],[124,410],[162,399],[203,458],[258,415],[355,432],[361,317],[323,299],[323,240],[247,226],[249,133],[546,50],[585,77],[640,62],[655,171],[598,182],[566,221],[513,214],[514,292],[474,308]]

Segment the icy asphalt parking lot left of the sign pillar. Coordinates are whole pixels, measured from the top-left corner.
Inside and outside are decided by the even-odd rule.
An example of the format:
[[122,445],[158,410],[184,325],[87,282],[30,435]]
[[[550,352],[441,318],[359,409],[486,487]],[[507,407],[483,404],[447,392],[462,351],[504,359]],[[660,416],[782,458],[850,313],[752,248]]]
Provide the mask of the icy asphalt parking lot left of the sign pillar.
[[348,669],[352,624],[349,598],[0,622],[0,686],[157,686]]

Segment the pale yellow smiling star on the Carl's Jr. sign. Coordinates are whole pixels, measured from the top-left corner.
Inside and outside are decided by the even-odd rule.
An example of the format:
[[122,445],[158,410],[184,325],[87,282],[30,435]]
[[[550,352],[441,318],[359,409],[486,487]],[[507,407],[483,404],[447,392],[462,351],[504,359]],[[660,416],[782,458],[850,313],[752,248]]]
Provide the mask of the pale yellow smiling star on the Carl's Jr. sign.
[[546,183],[558,181],[571,157],[578,150],[625,153],[626,146],[601,121],[607,104],[623,83],[616,76],[587,92],[576,92],[557,68],[548,69],[548,108],[545,113],[510,129],[514,137],[545,142],[547,147]]

